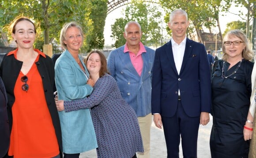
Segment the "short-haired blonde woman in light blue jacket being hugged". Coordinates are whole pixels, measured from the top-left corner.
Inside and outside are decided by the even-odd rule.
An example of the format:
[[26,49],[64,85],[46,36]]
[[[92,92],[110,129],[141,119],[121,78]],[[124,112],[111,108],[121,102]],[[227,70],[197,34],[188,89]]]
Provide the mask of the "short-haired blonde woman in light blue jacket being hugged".
[[[83,44],[82,28],[75,22],[63,26],[60,44],[65,51],[55,63],[58,98],[64,101],[82,99],[93,91],[94,81],[79,56]],[[59,111],[64,158],[79,158],[80,153],[98,147],[90,109]]]

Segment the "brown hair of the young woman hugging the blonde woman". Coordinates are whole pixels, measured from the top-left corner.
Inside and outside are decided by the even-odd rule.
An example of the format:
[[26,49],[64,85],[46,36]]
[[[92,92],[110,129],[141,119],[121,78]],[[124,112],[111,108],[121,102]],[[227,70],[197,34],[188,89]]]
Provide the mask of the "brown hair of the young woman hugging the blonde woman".
[[108,71],[108,68],[107,68],[107,59],[106,59],[105,55],[100,50],[90,51],[90,53],[87,55],[87,58],[85,60],[85,65],[87,64],[87,61],[88,61],[90,55],[93,54],[93,53],[97,53],[100,56],[101,68],[100,68],[100,71],[99,71],[99,77],[102,77],[106,73],[110,74],[109,71]]

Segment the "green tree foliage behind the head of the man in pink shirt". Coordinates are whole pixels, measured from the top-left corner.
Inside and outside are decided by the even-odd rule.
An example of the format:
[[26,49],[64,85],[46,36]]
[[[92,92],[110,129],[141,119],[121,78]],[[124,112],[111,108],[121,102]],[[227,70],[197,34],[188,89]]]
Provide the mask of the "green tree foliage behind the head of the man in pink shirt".
[[156,5],[133,0],[132,3],[126,7],[124,16],[125,18],[119,18],[113,25],[111,25],[111,37],[116,40],[114,47],[124,45],[124,26],[130,21],[139,22],[141,25],[143,32],[141,41],[143,44],[160,45],[159,43],[162,34],[161,27],[158,24],[162,19],[161,12],[158,11],[158,7]]

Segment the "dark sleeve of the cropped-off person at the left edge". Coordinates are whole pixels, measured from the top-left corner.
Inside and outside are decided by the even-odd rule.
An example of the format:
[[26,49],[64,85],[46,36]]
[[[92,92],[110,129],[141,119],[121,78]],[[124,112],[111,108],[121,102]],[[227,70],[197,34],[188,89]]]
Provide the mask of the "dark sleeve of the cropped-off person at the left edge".
[[7,153],[10,144],[10,129],[7,115],[7,94],[0,77],[0,158]]

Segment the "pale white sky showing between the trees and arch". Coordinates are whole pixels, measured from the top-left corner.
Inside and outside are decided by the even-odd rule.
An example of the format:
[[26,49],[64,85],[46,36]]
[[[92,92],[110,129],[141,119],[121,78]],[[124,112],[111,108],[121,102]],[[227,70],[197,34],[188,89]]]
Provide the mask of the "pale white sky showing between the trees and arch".
[[[111,25],[114,24],[114,22],[116,21],[117,18],[121,18],[123,17],[123,13],[122,13],[122,9],[125,9],[126,6],[122,6],[120,8],[117,8],[116,10],[112,11],[111,13],[109,13],[106,17],[106,21],[105,21],[105,27],[104,27],[104,38],[105,38],[105,45],[111,45],[114,44],[115,41],[113,41],[113,39],[110,37],[111,36]],[[245,8],[241,8],[241,7],[235,7],[234,5],[232,5],[232,7],[230,7],[230,12],[231,13],[235,13],[238,14],[238,11],[242,10],[242,11],[246,11]],[[224,16],[219,16],[219,20],[220,20],[220,25],[221,25],[221,31],[224,32],[226,29],[226,24],[232,21],[243,21],[238,15],[234,15],[231,13],[224,13]],[[188,15],[189,17],[189,15]],[[245,21],[243,21],[245,22]],[[214,28],[212,29],[213,32],[215,31],[215,33],[218,33],[218,29]]]

